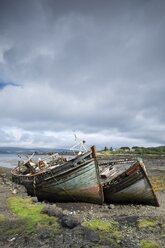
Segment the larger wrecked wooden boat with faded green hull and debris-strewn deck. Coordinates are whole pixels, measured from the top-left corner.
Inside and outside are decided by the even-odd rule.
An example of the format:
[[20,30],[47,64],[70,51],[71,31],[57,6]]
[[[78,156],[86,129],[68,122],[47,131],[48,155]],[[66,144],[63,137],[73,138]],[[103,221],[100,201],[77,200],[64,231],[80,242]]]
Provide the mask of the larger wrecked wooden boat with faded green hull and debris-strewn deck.
[[39,200],[103,203],[94,147],[69,161],[51,159],[46,165],[41,162],[44,163],[34,162],[31,158],[19,162],[12,170],[13,182],[24,185],[28,194],[37,196]]

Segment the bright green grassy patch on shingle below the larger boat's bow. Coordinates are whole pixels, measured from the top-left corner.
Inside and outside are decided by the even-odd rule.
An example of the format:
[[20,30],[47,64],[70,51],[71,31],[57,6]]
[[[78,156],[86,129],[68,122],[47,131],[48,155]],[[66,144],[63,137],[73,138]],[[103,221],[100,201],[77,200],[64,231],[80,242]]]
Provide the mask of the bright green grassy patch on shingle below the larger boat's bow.
[[82,226],[93,231],[99,231],[100,239],[109,241],[114,247],[122,240],[122,234],[119,231],[119,223],[116,221],[93,219],[91,221],[83,222]]

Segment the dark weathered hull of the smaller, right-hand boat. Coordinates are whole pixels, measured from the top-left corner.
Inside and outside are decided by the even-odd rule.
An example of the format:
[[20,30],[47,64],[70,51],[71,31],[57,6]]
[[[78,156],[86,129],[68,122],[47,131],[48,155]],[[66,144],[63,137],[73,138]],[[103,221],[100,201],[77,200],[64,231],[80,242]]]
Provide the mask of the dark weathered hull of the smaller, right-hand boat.
[[159,206],[146,174],[144,164],[137,161],[125,172],[103,182],[105,202],[136,203]]

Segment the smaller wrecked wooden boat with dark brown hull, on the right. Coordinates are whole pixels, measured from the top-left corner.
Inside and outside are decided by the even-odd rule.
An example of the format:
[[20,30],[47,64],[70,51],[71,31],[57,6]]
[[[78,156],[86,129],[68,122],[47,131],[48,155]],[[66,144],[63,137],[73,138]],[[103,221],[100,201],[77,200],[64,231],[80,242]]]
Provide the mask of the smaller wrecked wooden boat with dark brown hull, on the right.
[[159,206],[142,160],[116,160],[100,166],[104,200]]

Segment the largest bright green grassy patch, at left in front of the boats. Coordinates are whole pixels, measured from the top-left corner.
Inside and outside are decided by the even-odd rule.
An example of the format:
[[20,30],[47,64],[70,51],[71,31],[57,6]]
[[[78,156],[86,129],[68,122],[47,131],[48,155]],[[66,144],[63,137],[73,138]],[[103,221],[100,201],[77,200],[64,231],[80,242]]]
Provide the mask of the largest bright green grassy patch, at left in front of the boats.
[[57,218],[42,214],[44,204],[34,204],[30,198],[14,196],[8,198],[11,211],[25,223],[26,232],[36,232],[44,227],[59,228]]

